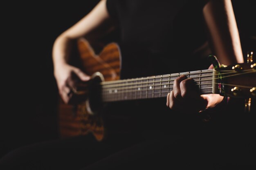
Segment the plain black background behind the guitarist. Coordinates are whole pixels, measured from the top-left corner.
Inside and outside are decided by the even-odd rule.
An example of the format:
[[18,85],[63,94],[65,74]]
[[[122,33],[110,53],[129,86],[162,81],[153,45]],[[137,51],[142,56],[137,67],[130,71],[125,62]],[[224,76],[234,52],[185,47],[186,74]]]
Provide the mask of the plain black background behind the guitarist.
[[[53,76],[52,45],[58,35],[83,18],[97,2],[22,2],[15,4],[15,8],[11,4],[14,16],[10,14],[10,19],[7,18],[7,32],[3,32],[8,38],[4,56],[10,61],[2,81],[2,91],[7,94],[0,115],[0,157],[20,146],[58,139],[58,91]],[[249,50],[256,52],[255,2],[232,2],[243,54]]]

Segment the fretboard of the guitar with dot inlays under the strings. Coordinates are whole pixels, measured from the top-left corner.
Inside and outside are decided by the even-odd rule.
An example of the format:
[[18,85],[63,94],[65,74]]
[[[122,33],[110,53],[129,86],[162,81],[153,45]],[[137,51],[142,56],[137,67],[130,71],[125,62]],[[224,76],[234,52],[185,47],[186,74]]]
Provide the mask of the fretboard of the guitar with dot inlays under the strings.
[[180,75],[192,78],[201,94],[213,93],[213,69],[101,82],[103,102],[166,97]]

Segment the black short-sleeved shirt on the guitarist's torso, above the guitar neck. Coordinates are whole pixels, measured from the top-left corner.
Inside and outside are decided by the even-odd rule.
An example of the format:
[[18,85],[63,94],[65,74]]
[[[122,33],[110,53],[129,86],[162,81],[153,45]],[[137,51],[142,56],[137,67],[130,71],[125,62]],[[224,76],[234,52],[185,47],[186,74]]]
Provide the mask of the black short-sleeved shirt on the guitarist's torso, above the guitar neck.
[[120,29],[121,78],[207,69],[209,64],[195,54],[207,42],[204,4],[107,0],[108,12]]

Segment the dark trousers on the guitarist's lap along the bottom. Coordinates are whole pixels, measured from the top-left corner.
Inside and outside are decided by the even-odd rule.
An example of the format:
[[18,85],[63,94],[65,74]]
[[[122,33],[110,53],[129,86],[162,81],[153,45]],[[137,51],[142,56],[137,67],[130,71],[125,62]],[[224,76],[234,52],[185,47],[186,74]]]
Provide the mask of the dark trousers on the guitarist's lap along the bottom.
[[158,134],[150,139],[117,137],[103,142],[88,135],[19,148],[0,160],[0,169],[246,169],[244,165],[256,163],[255,144],[255,136],[247,134]]

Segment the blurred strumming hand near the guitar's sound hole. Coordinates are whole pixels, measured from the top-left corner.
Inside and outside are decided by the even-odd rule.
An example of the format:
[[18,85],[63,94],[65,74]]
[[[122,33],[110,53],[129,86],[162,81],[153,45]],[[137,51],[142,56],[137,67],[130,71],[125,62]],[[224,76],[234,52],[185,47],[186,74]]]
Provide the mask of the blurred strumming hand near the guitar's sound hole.
[[54,68],[54,76],[56,78],[59,94],[63,101],[67,104],[76,90],[76,84],[79,81],[86,82],[90,76],[86,75],[79,68],[68,64],[61,64]]

